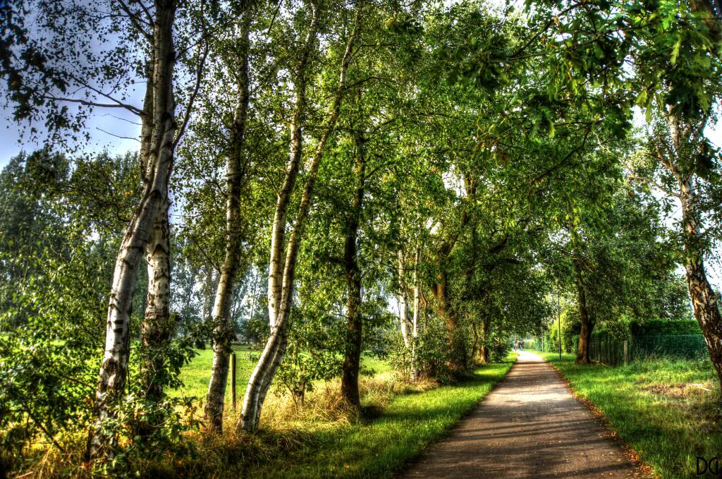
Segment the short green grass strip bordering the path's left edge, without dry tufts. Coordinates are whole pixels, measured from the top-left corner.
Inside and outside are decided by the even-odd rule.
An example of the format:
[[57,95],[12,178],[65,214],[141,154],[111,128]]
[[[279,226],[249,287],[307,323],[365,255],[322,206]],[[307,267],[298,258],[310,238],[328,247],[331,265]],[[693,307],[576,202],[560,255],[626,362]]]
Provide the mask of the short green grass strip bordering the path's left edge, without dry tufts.
[[387,478],[431,441],[444,436],[503,379],[516,355],[484,366],[468,381],[399,394],[374,419],[312,431],[306,444],[287,457],[259,464],[253,478]]

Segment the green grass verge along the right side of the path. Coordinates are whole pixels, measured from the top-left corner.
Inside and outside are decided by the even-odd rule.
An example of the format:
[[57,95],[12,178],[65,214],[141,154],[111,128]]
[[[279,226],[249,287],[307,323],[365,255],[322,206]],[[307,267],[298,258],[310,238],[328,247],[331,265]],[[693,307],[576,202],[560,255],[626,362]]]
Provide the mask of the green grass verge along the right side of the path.
[[722,454],[718,381],[710,361],[648,359],[628,366],[575,365],[539,353],[589,400],[659,478],[702,477],[696,457]]

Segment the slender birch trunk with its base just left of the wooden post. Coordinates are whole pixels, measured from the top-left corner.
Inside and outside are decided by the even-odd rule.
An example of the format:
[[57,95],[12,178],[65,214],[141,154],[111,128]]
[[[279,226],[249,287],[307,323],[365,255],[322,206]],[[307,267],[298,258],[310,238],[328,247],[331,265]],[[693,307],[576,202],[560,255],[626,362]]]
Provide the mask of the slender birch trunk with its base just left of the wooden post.
[[242,13],[240,35],[238,38],[238,51],[236,59],[238,67],[236,78],[238,80],[238,100],[233,114],[233,124],[230,131],[230,152],[226,158],[226,237],[225,258],[218,287],[213,304],[213,363],[211,378],[206,394],[204,408],[206,427],[209,431],[219,433],[223,429],[223,406],[225,404],[225,389],[228,379],[228,363],[231,352],[231,341],[234,337],[231,324],[230,308],[238,282],[238,269],[240,264],[240,251],[243,238],[240,234],[241,207],[240,197],[245,174],[245,125],[248,117],[248,50],[250,48],[249,33],[251,30],[251,11],[246,6]]

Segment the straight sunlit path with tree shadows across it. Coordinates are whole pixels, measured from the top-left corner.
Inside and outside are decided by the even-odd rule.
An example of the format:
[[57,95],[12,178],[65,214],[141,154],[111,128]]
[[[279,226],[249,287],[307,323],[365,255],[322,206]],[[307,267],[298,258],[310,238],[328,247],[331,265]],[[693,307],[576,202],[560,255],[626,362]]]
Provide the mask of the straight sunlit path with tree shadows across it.
[[522,352],[506,378],[404,478],[634,478],[642,472],[554,368]]

